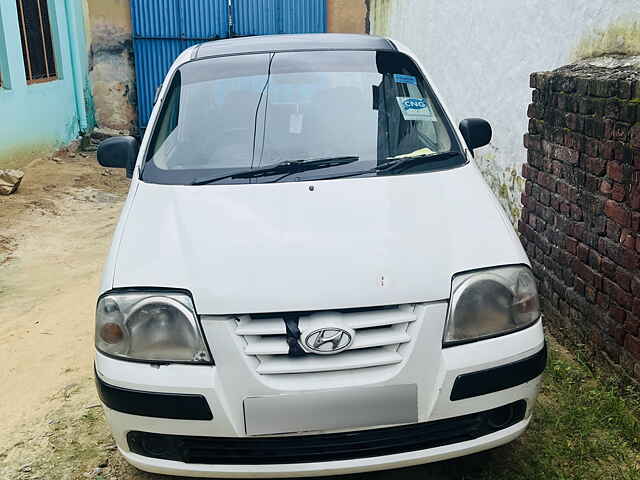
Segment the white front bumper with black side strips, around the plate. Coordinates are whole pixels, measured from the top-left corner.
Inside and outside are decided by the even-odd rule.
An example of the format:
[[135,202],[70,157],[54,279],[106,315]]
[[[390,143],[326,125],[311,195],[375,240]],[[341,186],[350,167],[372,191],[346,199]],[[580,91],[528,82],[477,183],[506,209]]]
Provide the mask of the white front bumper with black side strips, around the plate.
[[[215,355],[215,345],[213,349]],[[368,456],[357,455],[358,458],[352,456],[352,458],[341,459],[327,456],[325,461],[306,458],[297,463],[291,459],[286,459],[282,463],[212,463],[214,460],[187,463],[170,459],[172,458],[170,455],[164,455],[164,458],[153,458],[135,453],[141,450],[137,449],[135,445],[132,448],[129,443],[130,434],[143,432],[143,434],[159,434],[171,438],[175,436],[200,437],[203,441],[206,441],[207,438],[219,439],[219,437],[227,437],[232,441],[239,442],[242,442],[242,439],[248,442],[256,439],[268,441],[270,438],[247,435],[244,418],[238,418],[234,415],[233,405],[229,405],[230,389],[225,388],[224,382],[220,382],[216,367],[188,365],[150,367],[144,364],[122,362],[98,354],[96,377],[99,389],[100,385],[107,384],[124,391],[133,390],[143,394],[144,392],[151,394],[157,392],[174,393],[183,395],[185,398],[201,396],[206,400],[206,404],[211,408],[213,416],[211,420],[184,419],[185,410],[180,405],[175,406],[174,410],[180,412],[182,416],[166,415],[169,418],[157,418],[162,414],[156,417],[141,416],[139,411],[133,412],[137,414],[125,413],[109,408],[108,404],[105,405],[107,420],[122,455],[131,464],[142,470],[163,474],[196,477],[293,477],[390,469],[443,460],[493,448],[510,442],[526,429],[539,388],[540,372],[546,358],[541,322],[504,337],[443,349],[440,352],[437,373],[432,376],[435,379],[435,384],[433,382],[431,385],[421,383],[421,379],[424,377],[421,374],[424,372],[424,367],[421,369],[420,365],[411,364],[416,357],[420,357],[419,351],[415,351],[414,355],[409,356],[407,363],[394,376],[389,376],[388,379],[383,379],[378,383],[382,385],[406,384],[410,381],[416,383],[419,423],[413,424],[413,426],[428,425],[444,419],[455,422],[460,417],[482,413],[519,401],[524,401],[523,414],[514,419],[516,423],[508,424],[497,431],[482,431],[482,435],[461,436],[454,438],[454,441],[446,441],[439,445],[417,442],[407,445],[407,451],[385,451],[382,449],[372,451]],[[512,365],[516,368],[510,368]],[[510,374],[504,375],[507,371],[505,369]],[[467,388],[460,390],[460,382],[465,378],[472,381],[466,383]],[[505,378],[509,379],[506,383]],[[496,391],[487,391],[487,385],[496,379],[498,379],[497,383],[493,383],[502,383],[498,385],[500,388]],[[255,377],[246,381],[243,378],[242,382],[236,383],[245,385],[251,384],[252,381],[255,381]],[[343,388],[347,387],[348,385],[344,385]],[[480,390],[474,392],[474,388],[476,390],[480,388]],[[460,399],[455,399],[458,398],[453,395],[456,390],[463,391],[465,394],[460,396]],[[426,392],[426,394],[421,392]],[[268,390],[259,392],[259,394],[271,395],[274,393]],[[125,410],[125,408],[117,408]],[[367,430],[356,430],[355,433],[358,432],[367,432]],[[316,437],[319,439],[323,435],[335,435],[339,432],[313,433],[317,433],[317,435],[305,435],[305,438]],[[134,433],[135,435],[137,434]],[[294,434],[277,435],[271,438],[279,440],[295,437]]]

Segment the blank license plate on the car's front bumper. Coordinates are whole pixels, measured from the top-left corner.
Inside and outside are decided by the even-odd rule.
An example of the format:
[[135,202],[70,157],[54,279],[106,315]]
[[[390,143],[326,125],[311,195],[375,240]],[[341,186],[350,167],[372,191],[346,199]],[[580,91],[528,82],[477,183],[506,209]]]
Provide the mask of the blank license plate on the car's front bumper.
[[418,389],[389,385],[249,397],[244,414],[247,435],[415,423]]

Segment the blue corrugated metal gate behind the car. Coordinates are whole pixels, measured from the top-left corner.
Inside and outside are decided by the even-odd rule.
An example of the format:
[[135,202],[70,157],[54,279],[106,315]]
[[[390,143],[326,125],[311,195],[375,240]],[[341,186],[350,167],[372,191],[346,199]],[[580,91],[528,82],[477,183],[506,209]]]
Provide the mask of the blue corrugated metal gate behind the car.
[[[236,35],[326,31],[326,0],[232,0]],[[153,99],[185,48],[228,36],[227,0],[131,0],[138,125],[147,126]]]

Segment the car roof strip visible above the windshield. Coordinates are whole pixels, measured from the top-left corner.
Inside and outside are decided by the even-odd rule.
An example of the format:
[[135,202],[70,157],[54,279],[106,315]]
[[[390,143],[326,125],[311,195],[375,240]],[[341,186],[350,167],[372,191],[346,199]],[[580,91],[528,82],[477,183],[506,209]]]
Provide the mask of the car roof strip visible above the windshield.
[[396,50],[386,38],[350,33],[261,35],[214,40],[194,47],[192,59],[300,50]]

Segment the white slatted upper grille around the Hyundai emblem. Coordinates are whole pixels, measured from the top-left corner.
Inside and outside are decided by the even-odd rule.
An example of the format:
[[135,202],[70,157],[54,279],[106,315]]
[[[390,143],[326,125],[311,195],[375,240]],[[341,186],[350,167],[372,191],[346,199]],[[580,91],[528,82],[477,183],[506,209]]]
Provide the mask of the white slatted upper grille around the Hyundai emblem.
[[338,311],[304,312],[305,319],[327,318],[355,330],[353,344],[335,355],[289,356],[282,314],[235,317],[236,335],[244,353],[258,360],[263,375],[312,373],[394,365],[402,361],[399,347],[411,341],[409,325],[417,319],[415,305],[394,305]]

